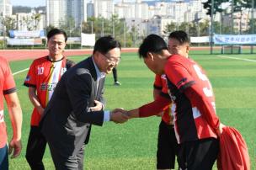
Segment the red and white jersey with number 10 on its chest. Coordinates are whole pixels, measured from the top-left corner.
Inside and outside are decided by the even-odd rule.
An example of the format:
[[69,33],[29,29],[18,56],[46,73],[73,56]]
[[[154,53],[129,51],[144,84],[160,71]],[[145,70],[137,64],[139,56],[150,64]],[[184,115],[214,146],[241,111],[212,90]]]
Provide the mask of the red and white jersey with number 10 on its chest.
[[[59,82],[62,74],[66,70],[66,57],[60,61],[51,61],[48,56],[41,57],[31,64],[24,81],[24,86],[36,88],[36,94],[40,100],[40,104],[45,108],[56,88],[57,82]],[[34,108],[30,124],[38,126],[39,123],[40,114]]]

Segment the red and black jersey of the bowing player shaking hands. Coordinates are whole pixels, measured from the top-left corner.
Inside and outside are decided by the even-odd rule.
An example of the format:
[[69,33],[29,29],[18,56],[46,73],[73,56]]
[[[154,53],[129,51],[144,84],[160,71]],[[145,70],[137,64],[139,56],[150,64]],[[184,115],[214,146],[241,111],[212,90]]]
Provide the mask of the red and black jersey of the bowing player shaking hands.
[[219,119],[215,97],[203,69],[189,58],[173,55],[164,71],[168,77],[170,97],[176,107],[174,128],[179,143],[216,138]]

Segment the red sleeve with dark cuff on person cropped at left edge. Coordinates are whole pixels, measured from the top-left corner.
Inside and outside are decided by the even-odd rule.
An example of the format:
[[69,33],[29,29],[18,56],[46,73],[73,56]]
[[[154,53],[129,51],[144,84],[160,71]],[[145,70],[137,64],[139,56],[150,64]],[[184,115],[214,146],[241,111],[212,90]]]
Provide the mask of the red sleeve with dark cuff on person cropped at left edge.
[[4,69],[4,82],[3,82],[3,93],[4,94],[9,94],[9,93],[13,93],[16,91],[15,88],[15,82],[13,79],[13,74],[12,71],[10,69],[10,67],[8,66],[8,61],[3,60],[5,69]]

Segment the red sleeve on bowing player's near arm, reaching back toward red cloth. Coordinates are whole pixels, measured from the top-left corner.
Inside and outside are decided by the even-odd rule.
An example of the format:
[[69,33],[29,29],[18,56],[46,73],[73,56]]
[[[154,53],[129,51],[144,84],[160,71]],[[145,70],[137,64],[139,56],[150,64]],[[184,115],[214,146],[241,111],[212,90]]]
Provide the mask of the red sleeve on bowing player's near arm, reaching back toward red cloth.
[[[201,80],[194,70],[188,70],[188,66],[180,62],[168,62],[165,71],[168,79],[175,84],[181,92],[184,92],[193,107],[200,110],[205,120],[212,128],[217,129],[220,120],[216,116],[215,101],[203,93],[202,86],[209,85],[208,78]],[[193,68],[190,68],[193,69]],[[206,77],[206,76],[205,76]]]

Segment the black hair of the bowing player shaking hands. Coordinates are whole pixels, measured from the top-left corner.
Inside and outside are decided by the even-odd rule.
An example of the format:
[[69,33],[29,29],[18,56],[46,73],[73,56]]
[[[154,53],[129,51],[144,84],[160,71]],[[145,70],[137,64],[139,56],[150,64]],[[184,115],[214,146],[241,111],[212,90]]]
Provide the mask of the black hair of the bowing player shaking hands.
[[162,50],[168,50],[166,42],[158,35],[148,35],[139,48],[139,57],[146,58],[148,52],[161,53]]

